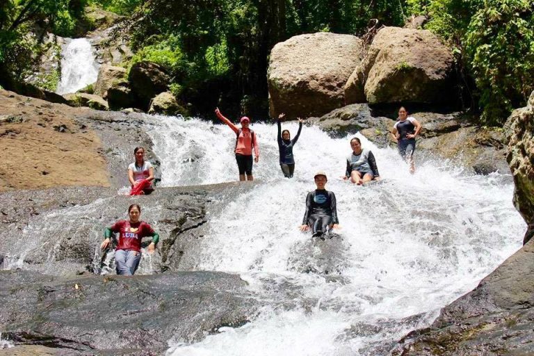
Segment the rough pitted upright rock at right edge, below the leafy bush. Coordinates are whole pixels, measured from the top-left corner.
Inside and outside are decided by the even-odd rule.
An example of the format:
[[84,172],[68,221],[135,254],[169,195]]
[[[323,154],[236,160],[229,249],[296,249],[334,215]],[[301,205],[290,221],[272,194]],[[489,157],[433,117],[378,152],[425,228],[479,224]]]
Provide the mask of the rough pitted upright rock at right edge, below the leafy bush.
[[514,176],[514,204],[528,224],[524,243],[534,236],[534,92],[525,108],[515,110],[505,127],[508,156]]

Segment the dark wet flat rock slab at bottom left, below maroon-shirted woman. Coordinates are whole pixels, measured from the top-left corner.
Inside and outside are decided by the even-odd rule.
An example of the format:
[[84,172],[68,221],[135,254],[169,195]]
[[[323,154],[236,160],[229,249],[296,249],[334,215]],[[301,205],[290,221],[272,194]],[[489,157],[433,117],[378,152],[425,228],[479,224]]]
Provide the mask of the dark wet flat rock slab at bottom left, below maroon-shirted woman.
[[257,307],[238,275],[218,272],[62,279],[0,271],[0,281],[2,337],[74,352],[161,355],[170,339],[191,343],[243,325]]

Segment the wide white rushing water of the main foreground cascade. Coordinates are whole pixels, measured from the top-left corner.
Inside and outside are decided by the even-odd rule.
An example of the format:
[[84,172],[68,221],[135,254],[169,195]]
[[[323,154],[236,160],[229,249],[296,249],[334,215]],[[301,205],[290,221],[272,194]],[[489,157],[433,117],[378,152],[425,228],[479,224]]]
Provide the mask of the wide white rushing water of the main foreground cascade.
[[[237,179],[228,127],[152,120],[163,186]],[[297,124],[283,126],[296,134]],[[171,340],[167,355],[387,355],[521,246],[525,225],[512,206],[508,172],[471,175],[437,159],[419,162],[410,175],[396,150],[362,138],[384,181],[355,186],[339,179],[348,138],[304,127],[295,178],[284,179],[275,125],[252,129],[261,183],[245,195],[229,191],[222,212],[208,211],[212,228],[196,269],[239,273],[269,306],[198,343]],[[340,238],[325,243],[298,231],[316,170],[327,172],[341,225]]]

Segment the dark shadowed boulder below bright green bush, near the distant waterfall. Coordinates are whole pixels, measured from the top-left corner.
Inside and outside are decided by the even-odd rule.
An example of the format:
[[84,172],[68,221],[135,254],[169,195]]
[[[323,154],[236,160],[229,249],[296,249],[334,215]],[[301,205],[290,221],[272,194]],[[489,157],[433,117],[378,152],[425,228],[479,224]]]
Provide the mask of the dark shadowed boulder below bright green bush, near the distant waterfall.
[[146,111],[153,97],[168,90],[170,79],[161,65],[142,61],[131,66],[128,81],[140,100],[141,108]]

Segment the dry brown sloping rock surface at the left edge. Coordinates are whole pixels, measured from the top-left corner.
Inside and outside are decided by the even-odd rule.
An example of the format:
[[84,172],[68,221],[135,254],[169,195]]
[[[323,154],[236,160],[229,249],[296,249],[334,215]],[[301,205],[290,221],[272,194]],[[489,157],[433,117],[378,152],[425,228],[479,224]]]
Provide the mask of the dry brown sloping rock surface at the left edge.
[[76,121],[88,111],[0,90],[0,191],[108,186],[100,140]]

